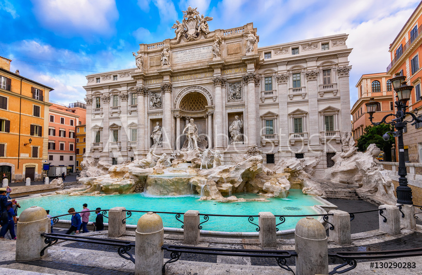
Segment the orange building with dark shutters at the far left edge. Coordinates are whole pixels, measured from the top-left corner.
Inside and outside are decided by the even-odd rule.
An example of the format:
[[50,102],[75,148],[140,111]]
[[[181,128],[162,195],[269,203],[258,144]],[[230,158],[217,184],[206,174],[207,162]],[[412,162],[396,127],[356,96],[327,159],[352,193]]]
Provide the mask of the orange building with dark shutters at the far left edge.
[[41,180],[53,88],[11,72],[10,62],[0,57],[0,172],[11,181]]

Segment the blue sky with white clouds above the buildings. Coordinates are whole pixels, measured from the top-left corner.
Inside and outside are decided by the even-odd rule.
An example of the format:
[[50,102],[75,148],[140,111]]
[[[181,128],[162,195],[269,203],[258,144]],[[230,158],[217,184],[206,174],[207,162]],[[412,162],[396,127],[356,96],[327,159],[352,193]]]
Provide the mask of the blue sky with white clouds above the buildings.
[[[321,4],[321,3],[324,4]],[[210,30],[253,22],[259,47],[349,34],[351,104],[364,73],[383,72],[389,45],[418,0],[0,0],[0,55],[55,90],[50,101],[83,101],[85,75],[134,68],[140,43],[174,37],[171,29],[191,5]]]

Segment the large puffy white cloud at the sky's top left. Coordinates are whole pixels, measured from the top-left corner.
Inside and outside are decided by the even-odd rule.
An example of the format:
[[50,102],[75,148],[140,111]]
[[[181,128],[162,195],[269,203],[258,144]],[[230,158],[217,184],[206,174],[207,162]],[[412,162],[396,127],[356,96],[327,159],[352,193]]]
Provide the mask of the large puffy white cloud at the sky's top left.
[[62,34],[111,34],[119,14],[114,0],[32,0],[46,29]]

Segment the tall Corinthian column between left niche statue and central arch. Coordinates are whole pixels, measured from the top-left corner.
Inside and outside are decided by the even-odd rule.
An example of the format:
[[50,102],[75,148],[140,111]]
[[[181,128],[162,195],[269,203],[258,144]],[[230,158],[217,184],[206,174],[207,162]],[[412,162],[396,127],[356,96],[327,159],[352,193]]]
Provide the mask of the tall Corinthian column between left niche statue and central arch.
[[166,153],[172,151],[171,145],[171,83],[164,83],[161,85],[162,93],[164,94],[162,106],[162,149]]

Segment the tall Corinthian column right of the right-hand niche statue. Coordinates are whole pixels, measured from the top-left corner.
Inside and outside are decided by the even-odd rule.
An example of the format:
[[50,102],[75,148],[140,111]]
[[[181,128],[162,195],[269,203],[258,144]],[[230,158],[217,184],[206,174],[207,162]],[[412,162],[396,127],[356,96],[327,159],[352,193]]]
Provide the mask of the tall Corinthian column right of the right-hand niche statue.
[[248,128],[248,146],[257,145],[257,107],[255,99],[255,85],[259,85],[260,76],[257,73],[247,73],[243,76],[243,80],[248,85],[247,90],[247,102],[248,102],[248,114],[246,127]]

